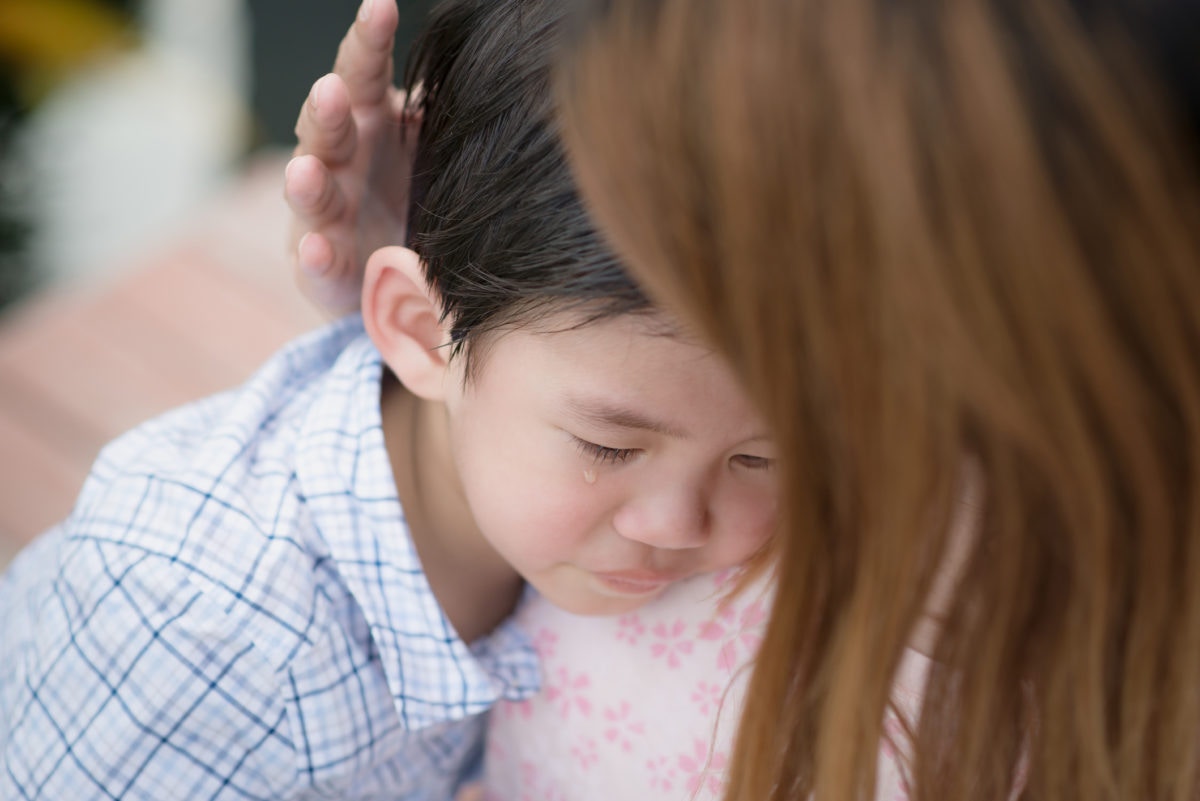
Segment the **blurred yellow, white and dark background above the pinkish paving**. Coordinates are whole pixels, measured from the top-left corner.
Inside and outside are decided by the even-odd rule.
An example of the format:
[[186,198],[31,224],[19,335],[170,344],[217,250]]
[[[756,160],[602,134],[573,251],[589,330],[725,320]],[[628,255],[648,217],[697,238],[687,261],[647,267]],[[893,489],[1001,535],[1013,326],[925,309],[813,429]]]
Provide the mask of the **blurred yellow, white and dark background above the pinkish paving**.
[[[401,1],[397,58],[430,4]],[[0,308],[119,269],[289,147],[355,0],[0,0]]]

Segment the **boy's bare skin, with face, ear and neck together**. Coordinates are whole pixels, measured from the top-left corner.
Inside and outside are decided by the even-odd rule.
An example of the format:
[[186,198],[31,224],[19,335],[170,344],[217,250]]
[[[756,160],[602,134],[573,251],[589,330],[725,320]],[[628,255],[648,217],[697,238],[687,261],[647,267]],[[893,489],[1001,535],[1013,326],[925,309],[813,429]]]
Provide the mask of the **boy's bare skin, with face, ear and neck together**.
[[362,308],[398,379],[383,416],[401,500],[461,634],[504,610],[488,584],[506,570],[613,615],[769,538],[766,427],[725,362],[661,314],[547,312],[474,341],[468,374],[413,251],[372,255]]

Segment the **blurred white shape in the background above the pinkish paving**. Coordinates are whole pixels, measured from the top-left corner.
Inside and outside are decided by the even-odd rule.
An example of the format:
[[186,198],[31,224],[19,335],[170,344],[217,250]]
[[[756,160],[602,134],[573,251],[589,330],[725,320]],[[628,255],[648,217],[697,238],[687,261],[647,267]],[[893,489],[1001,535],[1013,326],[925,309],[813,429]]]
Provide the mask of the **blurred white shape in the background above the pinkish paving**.
[[88,281],[170,236],[250,139],[242,0],[145,0],[144,46],[55,90],[14,146],[29,253],[50,279]]

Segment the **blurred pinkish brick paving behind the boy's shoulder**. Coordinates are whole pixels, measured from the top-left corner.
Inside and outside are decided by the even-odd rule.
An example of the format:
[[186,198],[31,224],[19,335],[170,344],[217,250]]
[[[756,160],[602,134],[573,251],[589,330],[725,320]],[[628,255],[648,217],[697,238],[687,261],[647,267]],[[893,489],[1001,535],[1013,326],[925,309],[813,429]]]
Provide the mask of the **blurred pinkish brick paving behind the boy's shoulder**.
[[284,261],[283,158],[256,158],[112,279],[0,319],[0,566],[70,511],[104,442],[238,384],[320,324]]

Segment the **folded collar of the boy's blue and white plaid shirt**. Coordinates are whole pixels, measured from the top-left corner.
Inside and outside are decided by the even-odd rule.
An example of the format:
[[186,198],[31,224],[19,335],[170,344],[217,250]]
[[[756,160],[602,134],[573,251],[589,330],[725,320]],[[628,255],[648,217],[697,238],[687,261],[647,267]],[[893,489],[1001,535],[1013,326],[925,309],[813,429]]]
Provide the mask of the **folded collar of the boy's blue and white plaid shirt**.
[[379,649],[396,711],[406,727],[421,728],[482,712],[499,698],[527,698],[539,671],[532,644],[511,621],[468,648],[438,606],[384,446],[383,371],[365,333],[350,341],[305,418],[296,476]]

